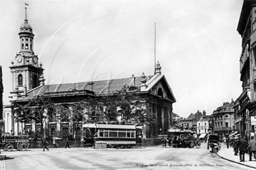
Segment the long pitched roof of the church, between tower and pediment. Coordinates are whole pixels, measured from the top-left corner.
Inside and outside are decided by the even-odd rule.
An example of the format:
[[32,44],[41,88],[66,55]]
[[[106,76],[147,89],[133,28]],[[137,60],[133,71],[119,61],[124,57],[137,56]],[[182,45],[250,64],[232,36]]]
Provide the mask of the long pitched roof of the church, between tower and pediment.
[[[146,77],[146,79],[151,79],[152,75]],[[38,86],[35,89],[28,91],[28,97],[33,97],[35,95],[47,95],[47,93],[59,93],[59,92],[69,92],[69,91],[93,91],[96,95],[103,93],[112,93],[114,91],[120,90],[124,85],[141,85],[141,77],[134,77],[135,81],[132,81],[132,77],[123,79],[111,79],[104,81],[90,81],[90,82],[76,82],[67,84],[49,84],[44,86]]]

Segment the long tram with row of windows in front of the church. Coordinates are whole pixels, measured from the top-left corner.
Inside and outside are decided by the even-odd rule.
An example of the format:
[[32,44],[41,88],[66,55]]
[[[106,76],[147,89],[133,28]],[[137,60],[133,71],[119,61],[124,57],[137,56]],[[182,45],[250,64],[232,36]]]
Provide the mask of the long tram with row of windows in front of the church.
[[83,137],[107,143],[107,148],[132,148],[136,145],[135,125],[83,124]]

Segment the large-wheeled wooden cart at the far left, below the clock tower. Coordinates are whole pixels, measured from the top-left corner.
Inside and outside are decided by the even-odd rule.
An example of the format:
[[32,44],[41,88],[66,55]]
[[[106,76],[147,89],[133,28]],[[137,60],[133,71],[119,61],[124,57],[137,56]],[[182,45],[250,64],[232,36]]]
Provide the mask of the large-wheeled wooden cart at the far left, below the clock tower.
[[1,136],[1,149],[4,151],[12,151],[16,149],[18,151],[27,150],[30,146],[29,135],[8,135]]

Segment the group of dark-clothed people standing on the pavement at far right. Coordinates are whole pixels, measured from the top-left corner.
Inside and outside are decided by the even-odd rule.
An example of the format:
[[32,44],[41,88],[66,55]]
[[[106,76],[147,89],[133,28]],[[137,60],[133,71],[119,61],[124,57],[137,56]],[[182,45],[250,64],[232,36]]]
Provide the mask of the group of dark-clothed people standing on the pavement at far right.
[[[229,141],[229,139],[226,139],[226,146],[228,148],[227,140]],[[245,136],[242,136],[241,139],[234,137],[232,143],[235,152],[234,155],[238,155],[239,152],[240,162],[244,162],[244,155],[246,151],[249,151],[249,161],[252,161],[252,154],[256,160],[256,142],[254,140],[254,136],[251,136],[251,140],[249,142],[246,141]]]

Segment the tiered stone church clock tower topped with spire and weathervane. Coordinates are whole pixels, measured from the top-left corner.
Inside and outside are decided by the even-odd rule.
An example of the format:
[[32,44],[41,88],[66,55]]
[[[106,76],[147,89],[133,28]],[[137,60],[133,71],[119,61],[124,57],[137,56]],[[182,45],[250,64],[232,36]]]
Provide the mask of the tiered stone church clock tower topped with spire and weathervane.
[[[28,5],[28,4],[26,4]],[[42,63],[38,65],[38,57],[33,50],[34,34],[33,29],[28,24],[27,8],[25,8],[25,20],[19,32],[20,50],[15,56],[10,66],[12,73],[12,91],[26,95],[26,91],[40,86],[39,79],[42,78],[44,69]]]

